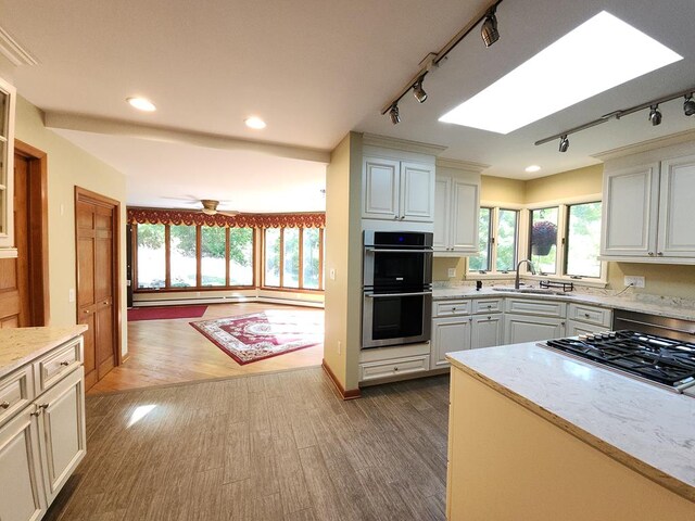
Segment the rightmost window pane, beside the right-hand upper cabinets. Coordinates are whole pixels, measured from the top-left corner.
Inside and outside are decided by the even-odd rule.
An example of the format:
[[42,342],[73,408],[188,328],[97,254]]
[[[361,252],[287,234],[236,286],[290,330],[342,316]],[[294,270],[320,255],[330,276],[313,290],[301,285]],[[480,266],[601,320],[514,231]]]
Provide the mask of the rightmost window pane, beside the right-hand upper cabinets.
[[567,225],[566,275],[601,277],[601,202],[573,204]]

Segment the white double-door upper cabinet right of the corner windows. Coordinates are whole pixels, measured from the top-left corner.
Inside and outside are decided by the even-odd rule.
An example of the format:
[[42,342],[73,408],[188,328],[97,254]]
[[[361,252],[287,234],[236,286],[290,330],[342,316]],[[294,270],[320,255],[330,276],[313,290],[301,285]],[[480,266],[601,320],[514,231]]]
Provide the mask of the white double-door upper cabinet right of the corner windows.
[[695,147],[681,144],[607,161],[605,260],[695,264]]

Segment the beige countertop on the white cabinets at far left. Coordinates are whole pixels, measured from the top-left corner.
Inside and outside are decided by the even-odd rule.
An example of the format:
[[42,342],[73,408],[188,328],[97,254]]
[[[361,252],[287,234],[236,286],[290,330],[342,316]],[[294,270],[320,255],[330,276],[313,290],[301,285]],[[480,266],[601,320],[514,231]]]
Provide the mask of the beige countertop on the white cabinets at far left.
[[0,329],[0,378],[85,331],[85,325]]

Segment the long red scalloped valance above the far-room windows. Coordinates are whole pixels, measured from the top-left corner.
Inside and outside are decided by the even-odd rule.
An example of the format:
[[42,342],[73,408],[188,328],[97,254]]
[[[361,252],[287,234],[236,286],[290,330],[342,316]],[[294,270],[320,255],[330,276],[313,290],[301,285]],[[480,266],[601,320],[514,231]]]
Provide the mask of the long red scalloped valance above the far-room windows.
[[224,226],[229,228],[325,228],[326,214],[238,214],[233,217],[189,209],[127,208],[130,225]]

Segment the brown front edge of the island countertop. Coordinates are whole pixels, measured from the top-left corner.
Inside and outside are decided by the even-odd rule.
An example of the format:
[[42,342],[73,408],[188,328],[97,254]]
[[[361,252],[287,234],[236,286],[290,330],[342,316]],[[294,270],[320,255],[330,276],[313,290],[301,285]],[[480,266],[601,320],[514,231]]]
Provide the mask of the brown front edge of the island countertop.
[[541,418],[563,429],[565,432],[571,434],[578,440],[586,443],[587,445],[596,448],[597,450],[601,450],[606,456],[615,459],[616,461],[624,465],[626,467],[629,467],[635,472],[644,475],[648,480],[654,481],[658,485],[664,486],[665,488],[668,488],[674,494],[678,494],[679,496],[695,503],[694,486],[691,486],[687,483],[684,483],[681,480],[670,474],[667,474],[655,467],[652,467],[650,465],[642,461],[641,459],[637,459],[634,456],[631,456],[630,454],[626,453],[624,450],[621,450],[618,447],[609,444],[608,442],[591,434],[590,432],[586,432],[581,427],[578,427],[574,423],[566,420],[565,418],[545,409],[544,407],[541,407],[535,402],[526,398],[525,396],[502,385],[500,382],[491,378],[488,378],[486,376],[476,371],[475,369],[471,369],[465,364],[462,364],[459,360],[456,360],[455,358],[452,358],[450,356],[446,356],[446,359],[452,364],[454,368],[460,369],[466,374],[475,378],[479,382],[497,391],[502,395],[508,397],[509,399],[516,402],[517,404],[521,405],[522,407],[530,410],[531,412],[540,416]]

